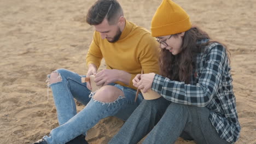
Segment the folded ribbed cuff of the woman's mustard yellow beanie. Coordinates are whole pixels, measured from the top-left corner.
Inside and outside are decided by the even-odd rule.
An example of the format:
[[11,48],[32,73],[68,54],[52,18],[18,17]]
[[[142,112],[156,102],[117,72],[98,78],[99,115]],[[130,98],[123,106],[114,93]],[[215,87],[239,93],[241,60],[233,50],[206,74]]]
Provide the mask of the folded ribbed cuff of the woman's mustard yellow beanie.
[[189,17],[183,21],[176,23],[170,23],[160,27],[152,27],[151,35],[153,37],[161,37],[165,35],[177,34],[188,31],[191,28],[191,22]]

